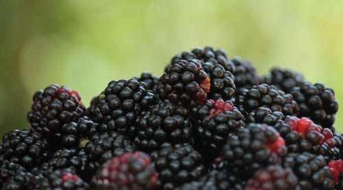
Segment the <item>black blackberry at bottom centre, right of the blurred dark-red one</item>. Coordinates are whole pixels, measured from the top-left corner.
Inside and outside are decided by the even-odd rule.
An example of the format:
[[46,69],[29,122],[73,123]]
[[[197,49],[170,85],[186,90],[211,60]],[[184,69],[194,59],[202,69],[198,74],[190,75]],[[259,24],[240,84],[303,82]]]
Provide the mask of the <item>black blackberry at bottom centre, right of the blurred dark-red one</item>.
[[157,189],[174,189],[198,180],[205,172],[201,154],[190,145],[167,146],[150,154],[157,172]]

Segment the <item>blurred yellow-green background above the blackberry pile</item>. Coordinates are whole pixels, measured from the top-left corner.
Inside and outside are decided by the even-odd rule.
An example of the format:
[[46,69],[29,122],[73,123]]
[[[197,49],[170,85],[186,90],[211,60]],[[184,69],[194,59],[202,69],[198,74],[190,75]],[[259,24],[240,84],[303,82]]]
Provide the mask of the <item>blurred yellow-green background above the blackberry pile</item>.
[[[58,83],[83,103],[113,79],[161,75],[171,57],[211,44],[303,72],[343,101],[343,1],[0,1],[0,135],[29,127],[32,96]],[[343,131],[343,112],[335,126]]]

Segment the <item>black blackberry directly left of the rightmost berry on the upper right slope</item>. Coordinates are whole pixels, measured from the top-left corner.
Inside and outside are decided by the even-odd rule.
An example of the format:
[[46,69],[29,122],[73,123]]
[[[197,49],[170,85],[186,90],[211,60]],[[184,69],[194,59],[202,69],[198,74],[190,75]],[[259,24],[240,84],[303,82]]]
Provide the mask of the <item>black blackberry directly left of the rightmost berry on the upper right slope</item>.
[[277,90],[274,85],[255,85],[250,90],[244,88],[236,96],[239,111],[246,116],[246,122],[274,125],[284,116],[298,116],[299,105],[291,94]]

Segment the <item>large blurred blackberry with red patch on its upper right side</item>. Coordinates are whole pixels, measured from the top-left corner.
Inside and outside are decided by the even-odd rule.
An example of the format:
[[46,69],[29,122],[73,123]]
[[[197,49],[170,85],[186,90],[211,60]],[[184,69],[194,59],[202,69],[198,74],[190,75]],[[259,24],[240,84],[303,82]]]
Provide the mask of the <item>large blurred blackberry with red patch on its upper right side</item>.
[[272,126],[248,124],[228,137],[217,169],[226,169],[237,178],[248,180],[262,167],[281,163],[286,153],[285,141]]

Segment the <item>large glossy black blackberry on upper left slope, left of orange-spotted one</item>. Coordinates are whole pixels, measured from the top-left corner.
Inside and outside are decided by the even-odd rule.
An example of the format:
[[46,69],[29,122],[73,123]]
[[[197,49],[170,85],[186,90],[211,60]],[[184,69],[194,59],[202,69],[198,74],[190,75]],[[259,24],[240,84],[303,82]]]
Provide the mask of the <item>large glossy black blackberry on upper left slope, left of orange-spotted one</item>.
[[141,111],[157,103],[155,94],[136,79],[111,81],[98,96],[94,120],[103,132],[117,131],[133,137],[134,121]]

